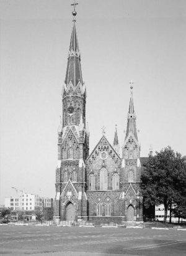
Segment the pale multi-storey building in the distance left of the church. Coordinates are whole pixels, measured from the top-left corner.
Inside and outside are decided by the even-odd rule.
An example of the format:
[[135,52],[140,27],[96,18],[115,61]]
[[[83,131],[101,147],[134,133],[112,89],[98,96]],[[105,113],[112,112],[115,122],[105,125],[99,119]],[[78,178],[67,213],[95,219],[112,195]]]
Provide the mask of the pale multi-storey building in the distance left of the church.
[[53,206],[53,199],[40,197],[34,194],[22,193],[20,197],[5,198],[5,207],[10,207],[11,211],[42,211],[43,207]]

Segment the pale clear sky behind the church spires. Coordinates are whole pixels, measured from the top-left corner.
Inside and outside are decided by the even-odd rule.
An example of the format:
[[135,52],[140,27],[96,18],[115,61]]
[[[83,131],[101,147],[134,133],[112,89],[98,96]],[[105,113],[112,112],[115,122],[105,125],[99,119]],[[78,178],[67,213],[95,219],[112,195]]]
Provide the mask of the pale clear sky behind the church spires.
[[[55,196],[73,1],[0,0],[0,204],[18,191]],[[130,80],[141,156],[186,154],[186,1],[79,0],[76,28],[87,87],[90,153],[105,126],[124,143]]]

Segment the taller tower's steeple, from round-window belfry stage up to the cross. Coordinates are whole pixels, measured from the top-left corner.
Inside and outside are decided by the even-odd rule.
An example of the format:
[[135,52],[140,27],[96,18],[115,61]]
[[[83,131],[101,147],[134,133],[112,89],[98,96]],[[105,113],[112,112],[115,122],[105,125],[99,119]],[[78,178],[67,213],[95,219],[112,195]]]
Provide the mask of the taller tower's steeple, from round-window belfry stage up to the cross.
[[68,63],[66,68],[66,77],[63,84],[63,127],[67,125],[76,125],[82,122],[86,126],[86,86],[82,80],[81,57],[78,45],[78,36],[76,32],[76,10],[77,3],[74,6],[73,29],[68,52]]

